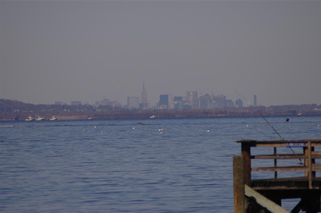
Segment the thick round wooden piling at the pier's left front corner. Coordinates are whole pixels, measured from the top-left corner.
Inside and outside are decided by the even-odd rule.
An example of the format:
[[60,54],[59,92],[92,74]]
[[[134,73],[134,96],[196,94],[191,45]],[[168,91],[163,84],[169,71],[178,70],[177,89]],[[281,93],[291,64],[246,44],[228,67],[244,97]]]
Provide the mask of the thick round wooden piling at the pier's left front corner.
[[245,213],[244,156],[233,156],[234,213]]

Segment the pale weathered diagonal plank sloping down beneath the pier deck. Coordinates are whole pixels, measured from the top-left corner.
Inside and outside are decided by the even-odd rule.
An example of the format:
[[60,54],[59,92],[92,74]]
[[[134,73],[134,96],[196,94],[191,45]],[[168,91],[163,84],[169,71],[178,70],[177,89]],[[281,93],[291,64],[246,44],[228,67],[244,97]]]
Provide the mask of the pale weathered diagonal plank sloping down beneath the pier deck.
[[251,189],[251,187],[245,185],[245,195],[247,197],[254,197],[256,202],[259,203],[261,206],[265,207],[269,211],[273,213],[290,213],[286,209],[283,209],[278,204],[274,203],[273,201],[267,199],[262,194],[256,192],[255,190]]

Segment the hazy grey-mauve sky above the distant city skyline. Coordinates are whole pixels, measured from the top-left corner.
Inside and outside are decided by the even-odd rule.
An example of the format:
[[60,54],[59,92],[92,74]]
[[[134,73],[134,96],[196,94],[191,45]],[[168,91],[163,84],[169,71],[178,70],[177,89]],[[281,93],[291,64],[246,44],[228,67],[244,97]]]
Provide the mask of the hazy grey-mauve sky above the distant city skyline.
[[[0,96],[320,104],[321,1],[4,1]],[[245,103],[245,101],[244,101]]]

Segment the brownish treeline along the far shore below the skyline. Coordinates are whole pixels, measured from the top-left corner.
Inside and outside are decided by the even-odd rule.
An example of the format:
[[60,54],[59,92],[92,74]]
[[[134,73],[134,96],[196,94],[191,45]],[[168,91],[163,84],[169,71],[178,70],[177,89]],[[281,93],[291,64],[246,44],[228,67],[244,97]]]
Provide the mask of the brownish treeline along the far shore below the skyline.
[[46,119],[56,116],[59,120],[67,119],[143,119],[176,117],[216,117],[216,116],[255,116],[255,115],[321,115],[321,105],[281,105],[248,106],[241,108],[207,110],[158,110],[125,109],[123,107],[85,105],[30,104],[16,100],[0,99],[0,120],[25,120],[28,116],[41,116]]

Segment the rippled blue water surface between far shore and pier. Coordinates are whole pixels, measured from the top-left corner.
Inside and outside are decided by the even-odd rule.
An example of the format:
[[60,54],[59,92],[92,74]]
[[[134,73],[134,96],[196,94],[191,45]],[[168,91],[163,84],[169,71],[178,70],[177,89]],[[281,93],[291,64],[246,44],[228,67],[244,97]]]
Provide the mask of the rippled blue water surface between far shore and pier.
[[[285,118],[284,139],[321,138],[320,116]],[[141,121],[1,122],[0,211],[230,213],[235,141],[279,140],[261,117]]]

